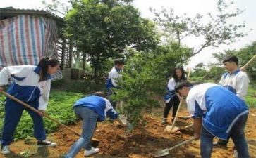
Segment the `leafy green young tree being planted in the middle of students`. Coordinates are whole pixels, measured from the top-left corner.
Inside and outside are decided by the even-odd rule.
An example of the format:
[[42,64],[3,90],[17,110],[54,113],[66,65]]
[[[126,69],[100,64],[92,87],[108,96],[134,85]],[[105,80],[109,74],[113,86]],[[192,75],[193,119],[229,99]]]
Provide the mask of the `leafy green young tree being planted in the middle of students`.
[[126,62],[126,67],[118,84],[114,100],[123,100],[123,113],[133,126],[143,122],[145,108],[159,106],[159,98],[166,91],[166,76],[173,68],[190,55],[190,49],[177,48],[176,43],[158,46],[152,52],[129,50],[134,56]]

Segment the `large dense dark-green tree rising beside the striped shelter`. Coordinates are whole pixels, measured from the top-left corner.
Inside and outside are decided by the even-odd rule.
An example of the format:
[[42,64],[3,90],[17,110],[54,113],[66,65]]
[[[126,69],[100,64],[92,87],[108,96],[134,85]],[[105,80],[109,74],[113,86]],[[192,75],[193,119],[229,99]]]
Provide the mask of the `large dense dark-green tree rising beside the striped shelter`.
[[140,17],[130,1],[76,1],[66,15],[66,37],[87,54],[97,79],[102,62],[123,57],[127,46],[150,51],[158,43],[154,23]]

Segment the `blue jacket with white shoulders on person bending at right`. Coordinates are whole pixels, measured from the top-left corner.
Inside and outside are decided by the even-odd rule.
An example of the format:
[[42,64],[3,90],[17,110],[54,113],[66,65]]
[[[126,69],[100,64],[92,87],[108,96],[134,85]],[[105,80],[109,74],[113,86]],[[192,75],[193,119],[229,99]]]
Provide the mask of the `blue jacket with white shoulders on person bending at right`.
[[193,118],[202,117],[205,129],[223,140],[227,140],[239,117],[248,114],[248,106],[243,100],[217,84],[193,86],[186,102]]

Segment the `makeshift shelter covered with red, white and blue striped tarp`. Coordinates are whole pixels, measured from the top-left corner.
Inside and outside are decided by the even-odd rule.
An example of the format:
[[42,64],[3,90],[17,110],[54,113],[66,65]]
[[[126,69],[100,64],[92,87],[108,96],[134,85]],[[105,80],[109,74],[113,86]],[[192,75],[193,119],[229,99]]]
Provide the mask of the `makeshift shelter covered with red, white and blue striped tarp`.
[[[37,65],[45,56],[71,67],[72,46],[58,34],[63,22],[47,11],[0,8],[0,70],[10,65]],[[61,71],[54,76],[61,77]]]

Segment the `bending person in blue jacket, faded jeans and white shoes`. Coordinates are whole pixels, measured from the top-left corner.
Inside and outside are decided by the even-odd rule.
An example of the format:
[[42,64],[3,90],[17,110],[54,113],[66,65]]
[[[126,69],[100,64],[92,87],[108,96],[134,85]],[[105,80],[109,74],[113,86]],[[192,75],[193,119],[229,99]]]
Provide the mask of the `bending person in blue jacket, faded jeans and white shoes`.
[[82,149],[85,148],[85,157],[99,152],[99,148],[94,148],[90,140],[95,131],[97,121],[104,121],[106,117],[115,119],[121,126],[126,126],[120,119],[118,113],[114,110],[109,100],[103,97],[104,93],[96,92],[91,96],[80,98],[73,108],[75,114],[83,120],[82,136],[76,141],[66,154],[65,158],[73,158]]

